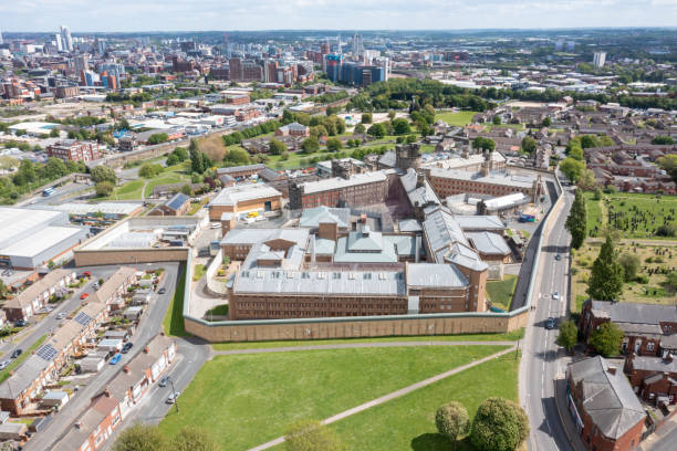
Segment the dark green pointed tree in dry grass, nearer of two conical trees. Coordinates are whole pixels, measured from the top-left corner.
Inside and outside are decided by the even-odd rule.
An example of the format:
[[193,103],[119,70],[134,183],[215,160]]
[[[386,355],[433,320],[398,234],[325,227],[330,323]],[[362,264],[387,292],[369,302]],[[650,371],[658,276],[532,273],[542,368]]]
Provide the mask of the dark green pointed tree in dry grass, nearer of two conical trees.
[[592,265],[587,294],[597,301],[614,301],[623,291],[624,271],[618,263],[614,241],[606,237]]

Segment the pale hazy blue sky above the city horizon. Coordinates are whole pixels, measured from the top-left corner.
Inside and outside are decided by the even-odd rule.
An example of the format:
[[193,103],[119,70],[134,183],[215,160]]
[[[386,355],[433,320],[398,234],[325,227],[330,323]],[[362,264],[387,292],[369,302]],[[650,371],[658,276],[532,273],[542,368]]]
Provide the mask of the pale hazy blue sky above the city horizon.
[[0,30],[675,27],[677,0],[0,0]]

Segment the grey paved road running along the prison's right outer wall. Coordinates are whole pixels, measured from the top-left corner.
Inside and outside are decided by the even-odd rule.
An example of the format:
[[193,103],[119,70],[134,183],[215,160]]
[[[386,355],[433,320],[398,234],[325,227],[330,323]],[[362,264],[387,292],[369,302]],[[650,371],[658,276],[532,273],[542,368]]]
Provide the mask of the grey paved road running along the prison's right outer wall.
[[[552,316],[558,324],[566,317],[571,239],[564,230],[564,221],[573,196],[569,191],[564,196],[565,204],[559,213],[555,212],[558,216],[553,218],[553,227],[541,249],[540,287],[538,298],[532,300],[535,310],[531,312],[527,327],[520,367],[522,402],[531,424],[528,445],[530,450],[539,451],[570,449],[555,406],[553,387],[555,375],[564,371],[564,361],[558,359],[556,329],[545,328],[548,317]],[[561,261],[555,260],[558,253],[563,255]],[[555,291],[560,293],[559,301],[552,298]]]

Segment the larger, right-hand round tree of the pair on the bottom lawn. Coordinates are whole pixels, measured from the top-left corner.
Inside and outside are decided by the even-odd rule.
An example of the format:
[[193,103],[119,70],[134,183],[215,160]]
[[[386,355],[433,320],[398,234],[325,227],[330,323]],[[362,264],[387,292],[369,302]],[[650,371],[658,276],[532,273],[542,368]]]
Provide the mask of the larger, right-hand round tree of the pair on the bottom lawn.
[[529,419],[515,402],[487,398],[472,420],[470,440],[480,451],[514,451],[529,437]]

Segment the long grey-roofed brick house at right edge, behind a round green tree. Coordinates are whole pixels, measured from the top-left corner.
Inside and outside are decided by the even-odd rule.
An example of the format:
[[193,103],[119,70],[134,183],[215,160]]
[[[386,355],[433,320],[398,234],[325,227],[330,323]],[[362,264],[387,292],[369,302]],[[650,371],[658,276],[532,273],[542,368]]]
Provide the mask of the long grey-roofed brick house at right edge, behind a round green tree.
[[624,354],[659,356],[677,348],[677,308],[674,305],[618,303],[587,300],[581,308],[579,328],[585,342],[606,322],[614,322],[625,333]]

